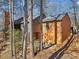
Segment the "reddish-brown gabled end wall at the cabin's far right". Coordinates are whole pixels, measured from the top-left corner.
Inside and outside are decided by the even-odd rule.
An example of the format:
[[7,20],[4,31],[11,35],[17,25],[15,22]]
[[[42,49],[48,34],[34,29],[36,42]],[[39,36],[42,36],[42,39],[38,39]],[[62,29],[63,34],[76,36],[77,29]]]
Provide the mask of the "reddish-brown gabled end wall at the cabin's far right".
[[62,42],[65,41],[70,35],[71,22],[68,15],[62,18]]

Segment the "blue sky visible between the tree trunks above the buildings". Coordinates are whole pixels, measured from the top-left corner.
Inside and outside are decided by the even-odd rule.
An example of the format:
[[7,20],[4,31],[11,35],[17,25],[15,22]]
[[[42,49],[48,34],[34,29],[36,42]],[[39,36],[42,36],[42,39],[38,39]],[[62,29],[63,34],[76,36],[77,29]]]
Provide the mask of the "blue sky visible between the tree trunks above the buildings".
[[[1,1],[3,3],[1,3]],[[2,12],[3,10],[8,10],[8,4],[6,3],[7,0],[0,0],[0,22],[2,22]],[[44,14],[47,17],[56,17],[58,14],[66,13],[69,14],[73,13],[72,2],[71,0],[43,0],[43,10]],[[40,2],[39,0],[33,0],[33,18],[36,18],[40,15]],[[79,19],[79,0],[76,0],[77,4],[77,19]],[[23,16],[23,0],[14,0],[15,5],[15,15],[14,20],[19,19]],[[1,23],[0,23],[1,25]]]

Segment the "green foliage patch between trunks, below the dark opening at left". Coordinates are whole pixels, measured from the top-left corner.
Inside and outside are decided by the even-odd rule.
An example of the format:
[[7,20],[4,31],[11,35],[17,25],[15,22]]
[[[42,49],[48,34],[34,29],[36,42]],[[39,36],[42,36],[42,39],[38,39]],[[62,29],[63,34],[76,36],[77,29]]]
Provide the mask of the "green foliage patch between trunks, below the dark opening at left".
[[16,50],[18,52],[19,49],[22,49],[22,32],[20,30],[14,30],[14,37]]

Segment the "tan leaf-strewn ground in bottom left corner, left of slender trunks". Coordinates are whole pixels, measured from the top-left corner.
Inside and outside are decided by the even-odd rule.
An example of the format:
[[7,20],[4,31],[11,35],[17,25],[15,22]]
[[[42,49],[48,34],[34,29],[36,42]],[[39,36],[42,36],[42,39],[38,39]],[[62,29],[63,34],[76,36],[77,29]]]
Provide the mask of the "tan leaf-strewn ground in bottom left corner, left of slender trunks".
[[3,32],[0,32],[0,59],[12,59],[10,40],[4,40]]

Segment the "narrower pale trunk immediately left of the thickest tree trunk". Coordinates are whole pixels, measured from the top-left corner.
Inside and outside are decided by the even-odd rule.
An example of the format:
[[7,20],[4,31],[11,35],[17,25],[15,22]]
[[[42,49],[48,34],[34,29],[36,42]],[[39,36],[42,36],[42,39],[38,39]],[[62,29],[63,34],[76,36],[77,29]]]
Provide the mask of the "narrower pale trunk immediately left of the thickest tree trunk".
[[23,1],[23,16],[24,16],[24,34],[23,34],[23,56],[22,59],[27,59],[26,58],[26,50],[27,50],[27,39],[28,39],[28,21],[27,21],[27,0]]

